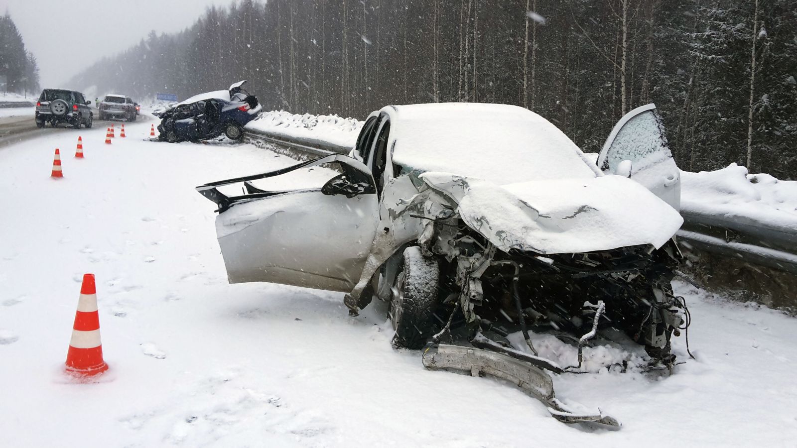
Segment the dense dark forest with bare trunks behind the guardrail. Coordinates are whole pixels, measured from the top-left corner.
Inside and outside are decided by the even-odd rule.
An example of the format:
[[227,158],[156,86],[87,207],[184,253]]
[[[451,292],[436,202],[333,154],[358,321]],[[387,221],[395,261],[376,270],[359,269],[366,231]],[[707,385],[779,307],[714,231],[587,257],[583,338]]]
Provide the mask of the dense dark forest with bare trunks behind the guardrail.
[[[242,79],[266,109],[518,104],[584,151],[654,102],[682,169],[797,179],[794,0],[242,0],[69,83],[141,100]],[[501,151],[501,148],[495,148]]]

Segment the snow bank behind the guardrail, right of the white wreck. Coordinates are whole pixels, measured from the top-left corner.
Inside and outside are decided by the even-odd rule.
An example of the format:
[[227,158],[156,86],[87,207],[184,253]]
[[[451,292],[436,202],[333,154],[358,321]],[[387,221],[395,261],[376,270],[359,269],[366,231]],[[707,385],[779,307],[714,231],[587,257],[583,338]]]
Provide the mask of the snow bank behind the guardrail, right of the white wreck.
[[736,163],[717,171],[681,171],[681,211],[747,218],[797,232],[797,181],[750,175]]

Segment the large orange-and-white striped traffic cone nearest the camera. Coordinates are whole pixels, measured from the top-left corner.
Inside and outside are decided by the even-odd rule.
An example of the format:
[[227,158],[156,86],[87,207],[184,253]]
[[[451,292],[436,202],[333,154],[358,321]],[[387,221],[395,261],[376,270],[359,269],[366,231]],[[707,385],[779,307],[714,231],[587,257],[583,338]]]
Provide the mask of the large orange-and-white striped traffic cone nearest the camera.
[[80,299],[77,301],[72,340],[66,354],[66,371],[73,375],[96,375],[108,370],[102,357],[100,313],[97,312],[94,274],[83,275]]

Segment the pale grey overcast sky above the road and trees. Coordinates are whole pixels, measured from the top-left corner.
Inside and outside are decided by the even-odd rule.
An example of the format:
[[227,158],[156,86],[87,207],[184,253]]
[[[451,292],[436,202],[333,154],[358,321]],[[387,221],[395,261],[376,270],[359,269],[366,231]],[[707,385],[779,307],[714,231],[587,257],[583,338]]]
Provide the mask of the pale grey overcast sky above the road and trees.
[[185,29],[207,6],[234,0],[0,0],[39,63],[42,88],[63,85],[80,69],[137,44],[151,29]]

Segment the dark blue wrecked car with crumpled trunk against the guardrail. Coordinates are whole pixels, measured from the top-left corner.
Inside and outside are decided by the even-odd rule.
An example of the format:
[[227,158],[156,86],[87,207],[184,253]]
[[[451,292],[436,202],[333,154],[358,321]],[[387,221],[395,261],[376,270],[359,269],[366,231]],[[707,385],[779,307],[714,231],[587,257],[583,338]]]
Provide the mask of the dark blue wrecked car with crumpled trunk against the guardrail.
[[244,88],[246,81],[230,85],[228,90],[201,93],[156,113],[159,140],[179,142],[208,140],[224,134],[240,140],[243,127],[262,111],[257,97]]

